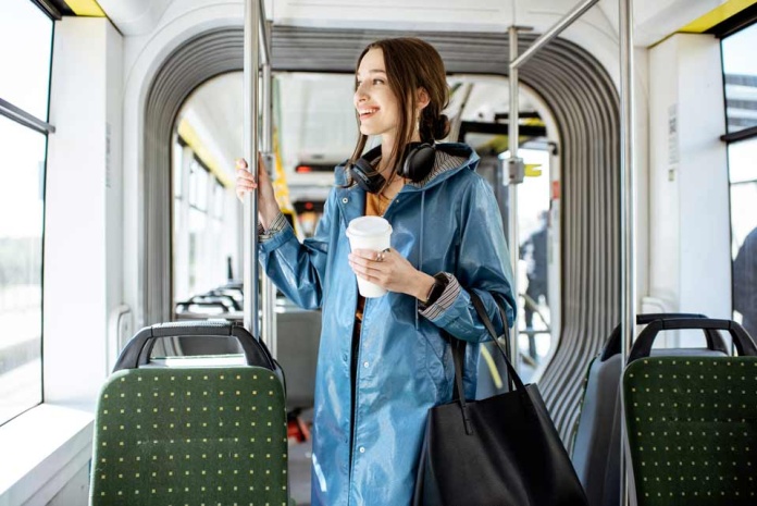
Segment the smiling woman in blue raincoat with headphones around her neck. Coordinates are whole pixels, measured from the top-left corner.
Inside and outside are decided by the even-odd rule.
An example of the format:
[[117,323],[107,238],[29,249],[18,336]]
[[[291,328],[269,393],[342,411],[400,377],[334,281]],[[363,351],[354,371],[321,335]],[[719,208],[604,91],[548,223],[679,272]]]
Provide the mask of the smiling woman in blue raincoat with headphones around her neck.
[[[414,38],[371,44],[358,60],[355,108],[360,139],[336,168],[315,235],[300,244],[260,172],[260,259],[294,303],[322,308],[315,382],[312,504],[407,505],[426,412],[452,396],[454,367],[443,331],[471,343],[466,393],[475,393],[477,342],[486,338],[470,291],[499,329],[493,297],[514,300],[501,217],[489,185],[462,144],[434,144],[449,131],[449,91],[436,50]],[[368,136],[381,146],[361,157]],[[421,144],[418,144],[421,143]],[[244,160],[237,195],[258,188]],[[350,220],[383,215],[392,248],[350,252]],[[388,291],[358,294],[356,275]],[[471,462],[474,465],[474,462]]]

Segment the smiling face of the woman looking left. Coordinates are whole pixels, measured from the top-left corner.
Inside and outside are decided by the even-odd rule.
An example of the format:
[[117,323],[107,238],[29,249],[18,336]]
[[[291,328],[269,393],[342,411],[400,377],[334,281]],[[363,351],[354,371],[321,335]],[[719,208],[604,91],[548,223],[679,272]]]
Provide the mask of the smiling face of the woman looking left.
[[360,133],[381,135],[387,146],[394,143],[399,124],[397,97],[389,88],[384,51],[370,49],[360,61],[356,75],[355,108],[360,115]]

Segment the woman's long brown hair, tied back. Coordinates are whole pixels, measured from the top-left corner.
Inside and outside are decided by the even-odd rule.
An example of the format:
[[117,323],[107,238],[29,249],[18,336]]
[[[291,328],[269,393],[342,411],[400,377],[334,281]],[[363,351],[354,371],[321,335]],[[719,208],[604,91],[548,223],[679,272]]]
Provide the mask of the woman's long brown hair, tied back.
[[[365,53],[371,49],[381,49],[384,53],[387,84],[397,97],[399,106],[399,125],[397,140],[392,147],[389,162],[392,174],[396,173],[398,161],[405,156],[408,144],[415,129],[415,109],[418,108],[418,89],[429,94],[429,104],[421,110],[419,129],[421,141],[432,143],[449,134],[449,120],[442,111],[449,104],[449,86],[439,53],[418,38],[401,37],[376,40],[370,44],[358,58],[357,71]],[[357,89],[357,78],[356,78]],[[358,131],[360,116],[356,111]],[[362,156],[368,136],[360,134],[349,162],[353,163]],[[387,181],[390,177],[387,177]]]

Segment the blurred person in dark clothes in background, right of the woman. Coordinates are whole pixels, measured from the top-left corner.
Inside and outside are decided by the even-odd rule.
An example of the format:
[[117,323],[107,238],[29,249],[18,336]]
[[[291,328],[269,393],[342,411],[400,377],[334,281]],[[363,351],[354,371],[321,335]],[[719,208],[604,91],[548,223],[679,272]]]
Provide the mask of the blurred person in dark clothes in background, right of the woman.
[[547,297],[547,225],[549,213],[542,211],[538,220],[538,229],[525,239],[519,250],[520,258],[525,259],[528,264],[525,275],[529,286],[525,288],[528,299],[523,305],[523,320],[525,321],[525,332],[529,336],[529,355],[534,360],[536,360],[535,306],[542,304],[542,296],[544,296],[544,303],[549,304]]

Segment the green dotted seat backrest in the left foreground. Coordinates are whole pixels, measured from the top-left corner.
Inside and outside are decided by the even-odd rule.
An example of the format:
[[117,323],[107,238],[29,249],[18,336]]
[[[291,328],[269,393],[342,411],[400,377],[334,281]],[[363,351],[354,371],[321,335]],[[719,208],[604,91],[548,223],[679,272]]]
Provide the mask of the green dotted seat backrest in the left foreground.
[[288,505],[281,378],[244,356],[218,360],[226,363],[191,357],[111,375],[96,415],[90,504]]

